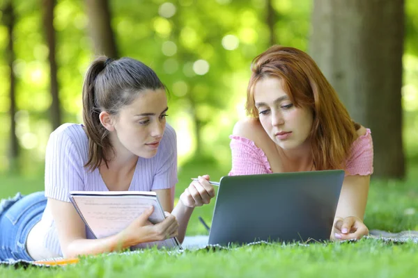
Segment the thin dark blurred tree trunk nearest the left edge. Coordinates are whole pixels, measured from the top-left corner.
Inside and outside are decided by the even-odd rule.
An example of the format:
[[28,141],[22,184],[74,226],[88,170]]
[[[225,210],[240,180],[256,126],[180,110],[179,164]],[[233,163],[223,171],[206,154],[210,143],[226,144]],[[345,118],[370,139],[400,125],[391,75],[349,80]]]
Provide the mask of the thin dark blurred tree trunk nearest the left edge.
[[19,142],[17,141],[16,136],[16,76],[13,72],[13,62],[15,61],[15,49],[13,44],[14,36],[14,27],[15,27],[15,11],[13,9],[13,2],[10,0],[6,4],[6,7],[3,11],[3,22],[7,26],[8,30],[8,47],[6,57],[8,59],[8,66],[10,69],[10,149],[9,149],[9,161],[10,161],[10,170],[17,169],[17,158],[19,157]]

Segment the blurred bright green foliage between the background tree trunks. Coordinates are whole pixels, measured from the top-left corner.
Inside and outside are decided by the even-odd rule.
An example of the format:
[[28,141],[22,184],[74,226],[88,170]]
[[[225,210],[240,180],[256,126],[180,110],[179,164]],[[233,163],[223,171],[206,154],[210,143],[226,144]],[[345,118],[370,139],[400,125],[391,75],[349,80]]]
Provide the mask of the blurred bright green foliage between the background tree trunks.
[[[3,7],[6,1],[0,3]],[[265,0],[109,1],[111,26],[122,56],[150,65],[171,92],[171,124],[178,131],[179,162],[217,153],[229,161],[229,134],[245,115],[245,90],[251,59],[269,45]],[[16,13],[14,72],[17,75],[17,137],[23,148],[22,174],[38,171],[52,131],[49,121],[49,67],[39,1],[13,0]],[[64,122],[81,122],[81,89],[93,59],[86,2],[58,0],[55,8],[59,95]],[[278,44],[307,50],[311,0],[272,0]],[[405,142],[418,154],[415,134],[418,106],[415,46],[417,5],[406,1]],[[3,14],[0,14],[3,17]],[[8,43],[0,26],[0,51]],[[9,80],[6,57],[0,57],[0,172],[10,164],[7,149]],[[412,99],[412,100],[411,100]],[[408,107],[407,107],[408,106]],[[183,144],[183,145],[182,145]],[[200,149],[196,149],[196,147]]]

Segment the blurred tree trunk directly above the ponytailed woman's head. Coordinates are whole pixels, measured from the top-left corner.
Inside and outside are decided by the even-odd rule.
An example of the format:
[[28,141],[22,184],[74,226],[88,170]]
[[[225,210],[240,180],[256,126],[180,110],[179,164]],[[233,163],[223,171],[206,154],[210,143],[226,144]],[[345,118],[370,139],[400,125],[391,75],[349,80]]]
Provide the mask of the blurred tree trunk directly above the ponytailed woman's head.
[[107,0],[86,0],[88,27],[93,38],[95,54],[118,58],[118,50],[111,28],[111,15]]

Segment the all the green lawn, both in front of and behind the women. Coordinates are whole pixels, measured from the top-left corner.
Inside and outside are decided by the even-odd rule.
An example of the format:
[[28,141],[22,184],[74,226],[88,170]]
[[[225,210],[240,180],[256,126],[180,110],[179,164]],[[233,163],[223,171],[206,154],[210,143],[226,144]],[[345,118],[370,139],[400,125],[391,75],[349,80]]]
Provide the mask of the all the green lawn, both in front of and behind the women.
[[[189,163],[179,171],[176,196],[191,177],[208,173],[213,180],[228,170],[203,163]],[[418,230],[418,166],[410,167],[405,181],[373,180],[365,222],[370,229]],[[17,190],[42,190],[42,177],[3,177],[0,197]],[[187,235],[207,234],[198,217],[210,224],[215,202],[196,208]],[[63,268],[14,270],[0,268],[0,277],[413,277],[417,272],[418,246],[364,239],[357,243],[261,245],[236,250],[201,250],[168,254],[146,250],[82,258]]]

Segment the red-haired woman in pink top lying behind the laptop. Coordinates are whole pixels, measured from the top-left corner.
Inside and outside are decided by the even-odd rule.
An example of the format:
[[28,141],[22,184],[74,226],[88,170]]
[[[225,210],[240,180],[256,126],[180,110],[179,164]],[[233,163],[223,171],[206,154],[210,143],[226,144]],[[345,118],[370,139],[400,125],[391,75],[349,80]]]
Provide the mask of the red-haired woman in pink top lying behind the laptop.
[[369,234],[363,223],[373,173],[371,131],[353,122],[309,55],[274,46],[254,58],[247,114],[231,136],[230,175],[343,169],[331,239]]

